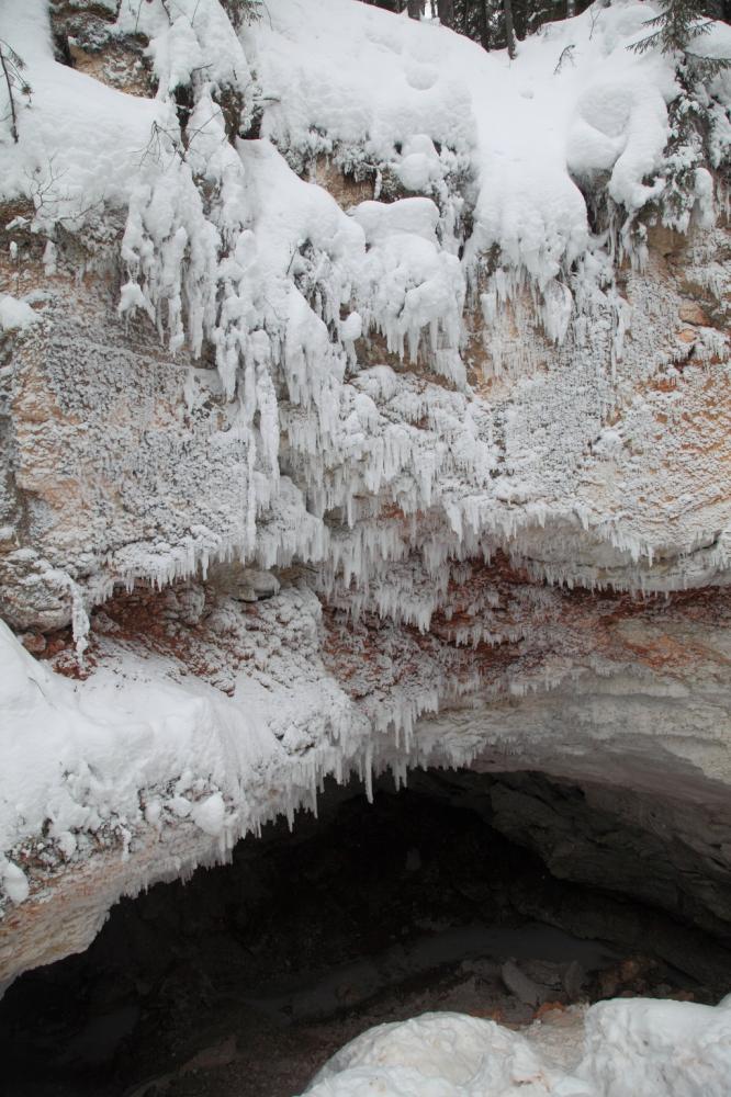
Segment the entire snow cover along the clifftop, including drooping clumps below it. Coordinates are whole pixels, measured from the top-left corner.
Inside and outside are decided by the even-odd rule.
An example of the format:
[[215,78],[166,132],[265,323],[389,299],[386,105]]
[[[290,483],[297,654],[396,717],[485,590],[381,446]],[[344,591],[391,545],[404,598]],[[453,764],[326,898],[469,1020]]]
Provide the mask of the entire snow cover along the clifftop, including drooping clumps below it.
[[[233,318],[222,325],[216,316],[216,287],[249,302],[247,328],[263,324],[269,331],[270,321],[256,306],[250,280],[232,282],[235,267],[221,262],[225,238],[257,231],[251,188],[270,189],[267,206],[275,206],[278,217],[267,213],[268,242],[275,255],[286,249],[279,269],[268,264],[281,295],[296,276],[293,251],[311,238],[305,211],[315,201],[304,197],[304,189],[292,201],[292,184],[282,171],[274,181],[267,157],[251,162],[240,148],[239,162],[225,140],[216,97],[238,89],[250,101],[254,65],[266,92],[262,136],[291,162],[322,152],[375,169],[378,179],[392,173],[406,191],[425,195],[398,212],[378,203],[352,212],[380,253],[366,256],[351,238],[348,271],[336,263],[331,274],[348,295],[366,297],[359,307],[366,330],[383,331],[390,349],[403,354],[406,346],[414,357],[429,328],[432,351],[438,331],[443,349],[456,351],[466,282],[495,245],[498,292],[510,296],[527,278],[540,295],[549,335],[561,340],[564,314],[573,307],[569,271],[589,247],[586,205],[574,180],[609,172],[608,193],[629,214],[663,192],[666,103],[677,93],[672,64],[627,49],[652,10],[625,0],[549,24],[521,44],[511,64],[504,53],[487,55],[442,27],[394,20],[351,0],[323,0],[316,10],[303,0],[274,0],[243,42],[216,0],[181,0],[170,19],[159,0],[139,10],[122,4],[119,31],[150,39],[158,80],[151,102],[55,64],[43,0],[10,0],[3,25],[14,48],[27,55],[34,105],[22,111],[22,155],[9,146],[0,154],[3,192],[30,193],[44,225],[54,218],[80,224],[100,202],[130,205],[123,258],[132,278],[121,309],[154,310],[173,350],[185,338],[195,353],[204,336],[220,346],[224,340],[218,363],[232,393],[232,371],[248,338],[239,316],[235,354]],[[190,82],[195,106],[181,157],[171,97]],[[194,182],[199,170],[218,190],[210,211]],[[461,264],[454,231],[464,199],[449,183],[453,172],[469,178],[473,192],[474,229]],[[429,240],[434,251],[390,239],[409,233]],[[384,274],[391,284],[379,293]],[[282,343],[269,333],[275,360]]]

